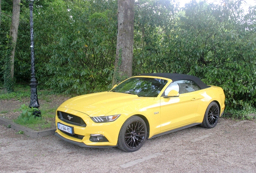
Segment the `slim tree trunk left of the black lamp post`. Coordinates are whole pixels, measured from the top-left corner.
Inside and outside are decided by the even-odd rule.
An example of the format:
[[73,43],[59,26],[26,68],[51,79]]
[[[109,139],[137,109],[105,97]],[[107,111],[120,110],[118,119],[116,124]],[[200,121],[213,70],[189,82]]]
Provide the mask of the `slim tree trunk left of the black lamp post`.
[[15,48],[18,36],[18,27],[20,22],[20,9],[21,9],[21,0],[13,0],[12,6],[12,24],[10,27],[10,36],[12,38],[12,54],[10,56],[11,60],[11,77],[14,76],[14,55]]

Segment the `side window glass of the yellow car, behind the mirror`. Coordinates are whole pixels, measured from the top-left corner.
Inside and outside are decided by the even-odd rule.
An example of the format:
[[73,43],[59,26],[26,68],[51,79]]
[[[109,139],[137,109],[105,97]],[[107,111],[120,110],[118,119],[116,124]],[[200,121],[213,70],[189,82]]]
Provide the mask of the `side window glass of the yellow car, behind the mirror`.
[[200,90],[200,87],[191,80],[178,80],[169,84],[169,86],[165,89],[164,95],[166,96],[171,90],[184,94],[192,91],[198,91]]

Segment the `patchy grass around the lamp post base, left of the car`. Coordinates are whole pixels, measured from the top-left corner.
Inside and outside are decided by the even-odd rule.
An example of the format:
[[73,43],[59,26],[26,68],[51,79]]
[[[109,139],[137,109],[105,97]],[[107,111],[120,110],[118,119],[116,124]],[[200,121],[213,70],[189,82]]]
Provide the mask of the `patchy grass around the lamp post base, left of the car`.
[[[44,129],[49,129],[52,127],[55,127],[55,114],[56,109],[58,108],[58,105],[55,103],[55,101],[62,99],[67,99],[67,96],[55,93],[52,90],[37,90],[38,100],[43,102],[43,104],[40,104],[39,110],[41,111],[41,117],[32,117],[27,119],[21,118],[19,116],[16,119],[13,119],[13,121],[19,125],[28,127],[30,129],[40,131]],[[15,84],[14,85],[14,92],[7,93],[3,89],[3,84],[0,82],[0,100],[9,100],[10,103],[13,103],[12,101],[16,101],[16,108],[14,108],[11,111],[1,111],[1,114],[5,114],[5,117],[7,113],[16,113],[21,111],[17,107],[21,107],[23,105],[23,102],[28,101],[30,98],[30,86],[29,84]],[[58,99],[59,98],[59,99]],[[17,102],[20,101],[20,102]],[[20,104],[20,105],[17,105]],[[27,105],[28,106],[28,105]],[[16,114],[17,116],[17,114]]]

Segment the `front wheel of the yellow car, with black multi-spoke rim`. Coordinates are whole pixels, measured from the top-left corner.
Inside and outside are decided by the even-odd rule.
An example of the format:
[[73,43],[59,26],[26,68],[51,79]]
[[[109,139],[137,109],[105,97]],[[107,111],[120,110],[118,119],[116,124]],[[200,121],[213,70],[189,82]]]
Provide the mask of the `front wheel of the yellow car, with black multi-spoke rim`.
[[145,121],[138,116],[132,116],[121,127],[118,136],[118,148],[126,152],[137,151],[145,143],[146,137]]

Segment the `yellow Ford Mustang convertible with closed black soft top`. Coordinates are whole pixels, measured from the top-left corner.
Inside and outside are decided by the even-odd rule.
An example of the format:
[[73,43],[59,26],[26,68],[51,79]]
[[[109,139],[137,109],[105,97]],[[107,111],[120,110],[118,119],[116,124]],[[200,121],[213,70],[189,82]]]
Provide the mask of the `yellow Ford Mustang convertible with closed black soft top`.
[[60,139],[81,147],[137,151],[146,139],[201,125],[213,128],[225,95],[198,77],[151,73],[133,76],[110,91],[81,95],[56,111]]

